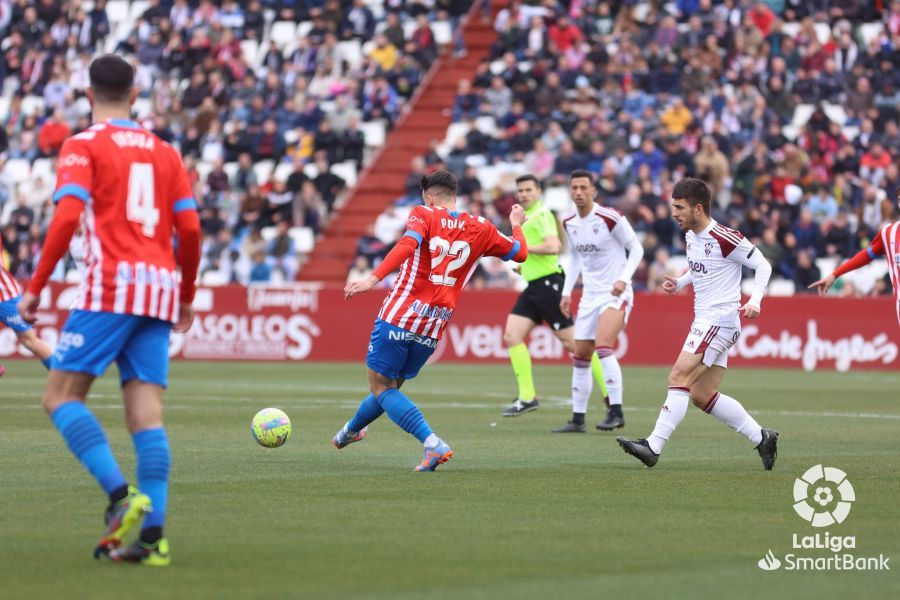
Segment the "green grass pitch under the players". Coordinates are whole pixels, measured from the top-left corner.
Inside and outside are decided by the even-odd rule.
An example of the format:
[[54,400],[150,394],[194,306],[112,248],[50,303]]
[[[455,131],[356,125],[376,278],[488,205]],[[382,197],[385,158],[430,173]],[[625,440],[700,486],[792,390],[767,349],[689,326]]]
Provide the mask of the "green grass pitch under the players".
[[[421,447],[386,416],[340,452],[330,438],[366,392],[361,365],[177,363],[167,394],[173,563],[94,561],[104,498],[40,410],[44,373],[0,382],[0,597],[18,598],[871,598],[900,597],[900,373],[733,369],[723,391],[781,432],[775,470],[691,408],[644,469],[615,435],[552,435],[570,371],[536,367],[541,409],[500,417],[506,366],[433,366],[404,390],[455,456],[417,474]],[[91,401],[126,474],[131,443],[114,369]],[[625,369],[624,434],[651,430],[665,369]],[[293,437],[265,450],[255,411]],[[589,425],[601,418],[595,392]],[[832,535],[888,572],[765,572],[757,561],[815,533],[793,482],[847,472],[857,500]],[[809,556],[826,556],[808,550]]]

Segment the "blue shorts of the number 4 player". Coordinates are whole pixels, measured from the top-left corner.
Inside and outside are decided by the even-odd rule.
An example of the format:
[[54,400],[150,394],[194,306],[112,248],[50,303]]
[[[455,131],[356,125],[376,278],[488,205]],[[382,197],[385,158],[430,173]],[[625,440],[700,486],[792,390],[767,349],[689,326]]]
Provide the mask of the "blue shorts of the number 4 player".
[[100,377],[116,361],[122,385],[137,379],[166,387],[171,332],[171,323],[152,317],[73,310],[50,368]]

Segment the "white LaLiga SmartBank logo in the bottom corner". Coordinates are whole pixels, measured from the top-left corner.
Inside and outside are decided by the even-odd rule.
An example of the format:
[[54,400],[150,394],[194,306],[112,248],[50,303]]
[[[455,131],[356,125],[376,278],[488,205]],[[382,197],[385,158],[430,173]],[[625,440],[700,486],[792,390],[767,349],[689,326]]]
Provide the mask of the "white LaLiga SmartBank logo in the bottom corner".
[[[847,474],[834,467],[816,465],[794,481],[794,511],[812,527],[840,525],[850,514],[856,492]],[[856,536],[831,531],[812,535],[794,533],[793,552],[782,558],[771,548],[756,564],[764,571],[888,571],[890,557],[857,556]]]

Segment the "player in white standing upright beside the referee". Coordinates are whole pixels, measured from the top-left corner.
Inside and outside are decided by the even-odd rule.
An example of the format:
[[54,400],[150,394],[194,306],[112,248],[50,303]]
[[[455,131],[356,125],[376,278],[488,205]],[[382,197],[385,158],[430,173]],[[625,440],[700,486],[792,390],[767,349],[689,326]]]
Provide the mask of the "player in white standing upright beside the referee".
[[565,316],[571,314],[572,290],[579,275],[584,292],[575,320],[572,419],[553,431],[584,432],[584,414],[592,388],[591,358],[595,352],[603,364],[609,397],[606,419],[597,424],[597,429],[611,431],[625,425],[622,369],[613,347],[634,306],[631,277],[641,264],[644,249],[622,213],[594,203],[597,188],[589,171],[572,172],[569,193],[575,203],[575,212],[563,219],[572,252],[559,305]]

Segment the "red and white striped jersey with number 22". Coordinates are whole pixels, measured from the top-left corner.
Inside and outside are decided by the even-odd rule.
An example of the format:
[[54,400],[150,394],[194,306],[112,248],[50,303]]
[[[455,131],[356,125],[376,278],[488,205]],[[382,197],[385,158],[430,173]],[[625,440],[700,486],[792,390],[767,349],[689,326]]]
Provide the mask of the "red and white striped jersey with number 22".
[[400,267],[378,318],[434,339],[440,339],[481,257],[518,259],[521,247],[482,217],[438,206],[416,206],[404,237],[417,247]]

